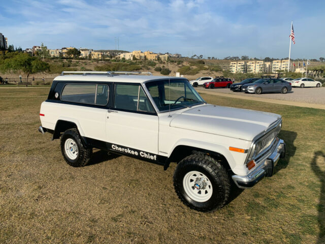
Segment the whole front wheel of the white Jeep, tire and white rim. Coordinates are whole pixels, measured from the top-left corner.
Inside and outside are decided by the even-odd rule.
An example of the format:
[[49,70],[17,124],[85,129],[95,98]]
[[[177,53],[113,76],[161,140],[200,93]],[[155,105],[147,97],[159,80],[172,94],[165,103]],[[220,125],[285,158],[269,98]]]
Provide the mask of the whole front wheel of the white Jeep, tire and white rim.
[[226,170],[212,157],[200,153],[178,163],[174,188],[185,205],[204,212],[221,208],[230,194]]

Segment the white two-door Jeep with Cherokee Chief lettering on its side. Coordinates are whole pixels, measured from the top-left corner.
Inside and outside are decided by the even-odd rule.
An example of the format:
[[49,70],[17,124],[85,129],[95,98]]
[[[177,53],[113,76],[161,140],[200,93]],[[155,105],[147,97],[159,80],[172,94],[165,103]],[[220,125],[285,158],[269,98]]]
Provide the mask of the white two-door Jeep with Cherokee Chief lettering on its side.
[[165,170],[177,162],[178,197],[193,209],[211,211],[228,200],[231,180],[239,188],[252,187],[272,176],[285,156],[277,137],[280,115],[207,104],[185,78],[67,73],[78,72],[53,80],[39,131],[61,138],[71,166],[85,166],[92,148]]

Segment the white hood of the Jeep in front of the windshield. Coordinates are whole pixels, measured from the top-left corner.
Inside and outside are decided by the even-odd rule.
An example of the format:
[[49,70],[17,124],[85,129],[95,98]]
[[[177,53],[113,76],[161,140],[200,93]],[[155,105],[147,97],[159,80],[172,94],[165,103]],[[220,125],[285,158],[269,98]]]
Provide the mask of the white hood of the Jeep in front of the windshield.
[[182,112],[170,126],[252,141],[280,118],[275,113],[207,104]]

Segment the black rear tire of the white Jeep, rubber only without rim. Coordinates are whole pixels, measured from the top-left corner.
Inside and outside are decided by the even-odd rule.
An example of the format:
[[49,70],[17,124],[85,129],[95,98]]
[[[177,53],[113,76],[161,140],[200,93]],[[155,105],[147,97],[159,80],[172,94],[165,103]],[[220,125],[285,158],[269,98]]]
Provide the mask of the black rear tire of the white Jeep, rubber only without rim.
[[[78,156],[76,159],[71,159],[66,154],[64,143],[69,138],[73,139],[78,147]],[[89,162],[92,154],[92,148],[87,148],[83,145],[80,134],[77,129],[74,128],[64,131],[63,135],[61,136],[60,144],[62,156],[70,166],[83,167]]]

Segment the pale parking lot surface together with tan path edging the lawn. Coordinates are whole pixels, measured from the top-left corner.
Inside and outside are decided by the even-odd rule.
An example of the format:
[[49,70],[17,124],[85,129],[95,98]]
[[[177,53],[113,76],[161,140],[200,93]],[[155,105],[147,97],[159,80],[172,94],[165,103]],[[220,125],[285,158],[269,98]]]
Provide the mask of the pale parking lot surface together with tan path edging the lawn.
[[203,87],[196,87],[196,89],[199,93],[201,92],[261,102],[325,109],[325,87],[293,88],[293,90],[287,94],[269,93],[261,95],[238,92],[235,93],[227,88],[206,89]]

